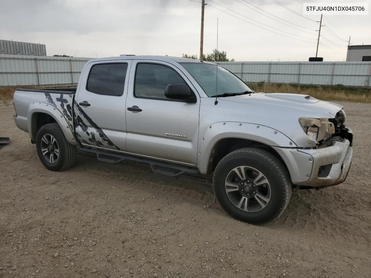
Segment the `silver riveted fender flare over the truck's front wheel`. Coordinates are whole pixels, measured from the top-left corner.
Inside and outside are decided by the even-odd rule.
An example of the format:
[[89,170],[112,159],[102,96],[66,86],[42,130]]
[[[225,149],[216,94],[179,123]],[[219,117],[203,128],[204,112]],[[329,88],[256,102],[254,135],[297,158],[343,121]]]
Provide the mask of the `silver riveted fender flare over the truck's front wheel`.
[[207,127],[199,141],[197,164],[201,174],[207,173],[216,144],[226,138],[247,139],[268,146],[296,147],[290,138],[268,126],[243,122],[216,122]]

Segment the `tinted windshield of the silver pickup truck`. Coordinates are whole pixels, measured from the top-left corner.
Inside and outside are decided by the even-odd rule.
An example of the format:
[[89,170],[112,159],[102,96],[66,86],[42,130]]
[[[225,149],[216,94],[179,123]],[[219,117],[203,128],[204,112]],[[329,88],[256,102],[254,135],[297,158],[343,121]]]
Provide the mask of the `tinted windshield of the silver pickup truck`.
[[[180,63],[187,72],[196,80],[198,85],[204,90],[207,96],[214,97],[233,96],[235,94],[242,95],[243,93],[254,91],[246,85],[241,79],[231,73],[229,70],[215,64],[206,63]],[[216,73],[218,72],[218,79]]]

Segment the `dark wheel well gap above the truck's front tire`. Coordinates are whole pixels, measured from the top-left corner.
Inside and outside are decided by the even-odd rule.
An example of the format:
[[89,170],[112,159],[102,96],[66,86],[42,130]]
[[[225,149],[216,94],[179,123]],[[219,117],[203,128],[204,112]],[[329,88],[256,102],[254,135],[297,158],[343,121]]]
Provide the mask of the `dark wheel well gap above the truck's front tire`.
[[[271,146],[265,145],[260,142],[256,142],[253,140],[247,139],[240,139],[240,138],[225,138],[221,139],[219,142],[216,143],[214,149],[211,151],[211,158],[209,160],[209,169],[208,172],[213,172],[216,168],[216,165],[220,162],[220,160],[226,156],[228,153],[233,152],[234,150],[238,150],[241,148],[258,148],[266,150],[267,152],[274,155],[283,166],[286,168],[286,164],[281,158],[281,156],[273,149]],[[288,172],[287,168],[286,171]]]

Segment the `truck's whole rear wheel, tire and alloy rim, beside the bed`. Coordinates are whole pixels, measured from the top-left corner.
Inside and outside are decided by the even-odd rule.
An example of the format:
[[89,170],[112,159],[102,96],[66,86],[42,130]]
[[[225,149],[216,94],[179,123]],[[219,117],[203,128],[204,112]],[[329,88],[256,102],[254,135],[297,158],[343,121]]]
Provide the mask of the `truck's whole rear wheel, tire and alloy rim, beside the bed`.
[[58,123],[43,125],[36,135],[37,155],[51,171],[63,171],[76,161],[76,146],[67,142]]

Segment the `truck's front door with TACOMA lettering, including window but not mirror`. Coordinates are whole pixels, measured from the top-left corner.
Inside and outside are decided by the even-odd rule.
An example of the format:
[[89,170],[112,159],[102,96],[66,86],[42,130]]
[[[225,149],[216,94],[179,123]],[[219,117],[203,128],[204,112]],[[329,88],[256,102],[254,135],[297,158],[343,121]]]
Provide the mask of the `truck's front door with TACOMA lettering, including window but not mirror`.
[[[170,63],[134,60],[129,78],[127,151],[196,165],[200,97],[187,77]],[[187,84],[197,102],[167,99],[168,84]]]

